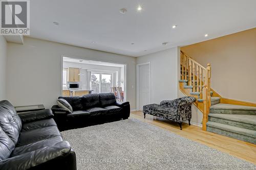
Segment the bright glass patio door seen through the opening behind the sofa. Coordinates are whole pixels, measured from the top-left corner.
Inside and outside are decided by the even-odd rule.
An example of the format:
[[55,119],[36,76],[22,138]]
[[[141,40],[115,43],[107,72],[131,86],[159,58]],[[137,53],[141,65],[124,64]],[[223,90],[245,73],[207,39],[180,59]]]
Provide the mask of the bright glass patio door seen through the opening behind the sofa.
[[112,74],[92,73],[91,83],[93,93],[111,92]]

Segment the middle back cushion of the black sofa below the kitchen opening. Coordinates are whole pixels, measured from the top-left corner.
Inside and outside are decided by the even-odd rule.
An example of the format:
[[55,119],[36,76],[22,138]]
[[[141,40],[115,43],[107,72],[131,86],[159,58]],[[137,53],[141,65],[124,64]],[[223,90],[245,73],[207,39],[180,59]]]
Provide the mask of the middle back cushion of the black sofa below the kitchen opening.
[[99,94],[86,94],[82,96],[83,109],[99,107]]

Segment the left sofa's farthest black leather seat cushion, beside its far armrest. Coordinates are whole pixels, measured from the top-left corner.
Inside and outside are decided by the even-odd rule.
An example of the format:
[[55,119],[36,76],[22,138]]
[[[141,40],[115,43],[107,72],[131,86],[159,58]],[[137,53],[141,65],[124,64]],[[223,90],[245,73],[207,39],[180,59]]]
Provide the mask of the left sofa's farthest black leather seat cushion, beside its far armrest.
[[45,128],[49,126],[57,126],[53,118],[38,120],[35,122],[27,123],[23,125],[22,131],[29,131],[34,129]]

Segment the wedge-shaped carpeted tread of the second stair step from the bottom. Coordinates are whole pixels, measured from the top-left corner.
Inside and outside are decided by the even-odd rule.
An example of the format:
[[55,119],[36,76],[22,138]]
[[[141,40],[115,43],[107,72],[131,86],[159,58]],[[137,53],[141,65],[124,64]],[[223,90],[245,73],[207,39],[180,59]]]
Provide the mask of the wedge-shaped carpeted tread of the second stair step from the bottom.
[[240,114],[213,114],[209,113],[209,117],[216,117],[234,122],[251,124],[256,126],[256,115],[240,115]]

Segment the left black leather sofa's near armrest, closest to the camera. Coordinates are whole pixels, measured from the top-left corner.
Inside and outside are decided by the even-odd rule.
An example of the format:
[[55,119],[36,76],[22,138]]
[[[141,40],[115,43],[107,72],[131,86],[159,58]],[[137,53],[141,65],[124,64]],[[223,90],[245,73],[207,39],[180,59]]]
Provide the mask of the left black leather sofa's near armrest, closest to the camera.
[[[61,166],[61,164],[58,164],[58,161],[63,161],[63,163],[66,162],[67,164],[72,162],[75,164],[76,162],[72,159],[70,162],[66,160],[71,152],[73,159],[75,159],[75,154],[71,151],[70,143],[68,141],[60,141],[49,147],[2,160],[0,161],[0,169],[44,169],[44,167]],[[54,164],[54,162],[57,164]],[[65,169],[75,169],[74,167],[76,165],[70,165],[69,167]]]

